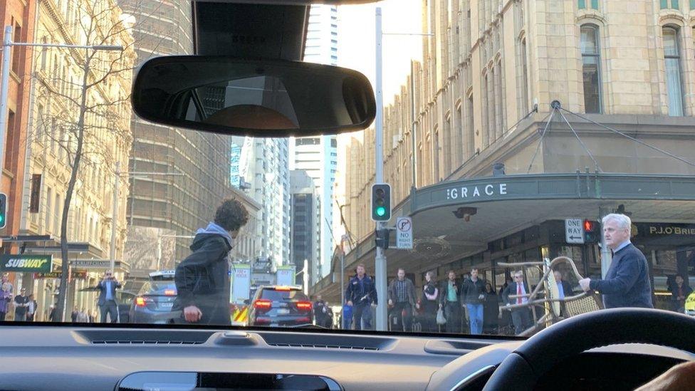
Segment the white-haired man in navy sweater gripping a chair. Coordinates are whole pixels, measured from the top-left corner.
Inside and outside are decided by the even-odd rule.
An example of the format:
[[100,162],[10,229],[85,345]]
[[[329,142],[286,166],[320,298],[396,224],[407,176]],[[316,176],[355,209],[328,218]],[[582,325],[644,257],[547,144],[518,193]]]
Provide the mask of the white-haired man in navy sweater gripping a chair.
[[602,293],[605,308],[654,308],[647,259],[629,241],[632,221],[625,214],[608,214],[602,222],[603,236],[613,253],[610,268],[604,279],[584,278],[580,286],[585,292]]

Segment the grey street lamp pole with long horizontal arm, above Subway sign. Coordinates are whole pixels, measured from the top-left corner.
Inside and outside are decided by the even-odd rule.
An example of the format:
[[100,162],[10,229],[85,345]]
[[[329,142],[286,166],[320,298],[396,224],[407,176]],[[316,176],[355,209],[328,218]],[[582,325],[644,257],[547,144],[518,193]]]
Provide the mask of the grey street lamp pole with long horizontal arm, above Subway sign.
[[[7,129],[7,95],[10,78],[10,48],[12,46],[31,46],[40,48],[73,48],[90,49],[93,51],[124,51],[123,46],[117,45],[68,45],[63,43],[25,43],[12,42],[12,26],[5,26],[5,39],[2,43],[2,76],[0,83],[0,172],[5,162],[5,132]],[[1,184],[0,184],[1,188]],[[113,270],[112,270],[113,271]]]

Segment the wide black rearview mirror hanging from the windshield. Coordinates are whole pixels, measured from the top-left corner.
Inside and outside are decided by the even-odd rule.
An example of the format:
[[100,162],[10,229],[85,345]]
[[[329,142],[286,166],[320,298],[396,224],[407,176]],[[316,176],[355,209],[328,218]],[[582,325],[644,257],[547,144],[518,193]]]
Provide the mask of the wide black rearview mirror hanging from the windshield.
[[132,108],[152,122],[254,137],[362,130],[376,115],[372,85],[359,72],[221,56],[147,61],[135,77]]

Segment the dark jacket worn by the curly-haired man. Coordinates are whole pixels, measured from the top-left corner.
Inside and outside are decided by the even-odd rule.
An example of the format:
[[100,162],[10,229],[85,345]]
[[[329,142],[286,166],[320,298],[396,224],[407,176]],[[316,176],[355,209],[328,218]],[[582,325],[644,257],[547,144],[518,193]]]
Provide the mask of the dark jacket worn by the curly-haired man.
[[177,297],[172,311],[196,306],[203,313],[196,324],[229,325],[228,254],[231,244],[219,234],[199,233],[193,239],[191,250],[193,254],[184,259],[174,273]]

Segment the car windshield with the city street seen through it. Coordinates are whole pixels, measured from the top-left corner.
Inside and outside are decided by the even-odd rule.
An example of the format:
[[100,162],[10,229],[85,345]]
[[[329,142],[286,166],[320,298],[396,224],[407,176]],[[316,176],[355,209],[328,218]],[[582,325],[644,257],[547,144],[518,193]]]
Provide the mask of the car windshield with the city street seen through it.
[[[528,336],[695,316],[694,1],[311,6],[296,57],[365,74],[379,113],[286,138],[132,113],[138,66],[194,53],[190,1],[32,9],[9,39],[33,46],[4,51],[0,320]],[[258,80],[187,96],[244,108]]]

